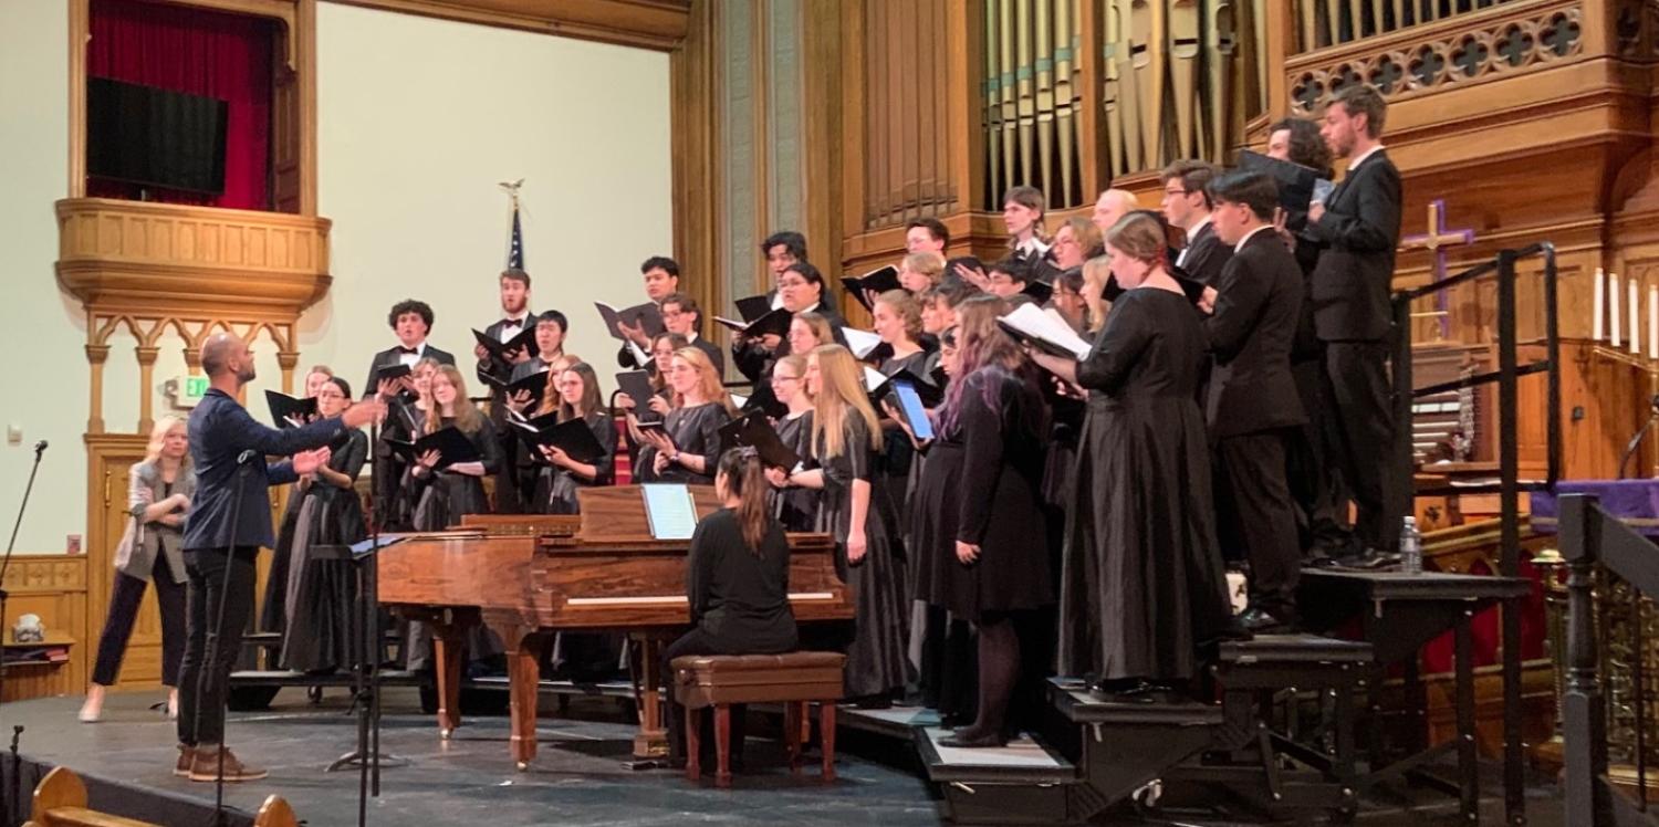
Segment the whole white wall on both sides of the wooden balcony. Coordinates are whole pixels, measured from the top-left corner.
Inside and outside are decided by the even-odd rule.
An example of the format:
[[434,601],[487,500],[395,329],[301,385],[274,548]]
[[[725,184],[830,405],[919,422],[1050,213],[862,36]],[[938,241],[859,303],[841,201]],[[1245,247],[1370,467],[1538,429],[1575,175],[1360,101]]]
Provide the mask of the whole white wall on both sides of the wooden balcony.
[[[358,384],[392,343],[387,308],[405,297],[436,308],[433,343],[468,363],[466,328],[499,317],[496,182],[524,177],[533,308],[571,315],[567,350],[609,381],[615,348],[592,302],[637,300],[639,262],[672,247],[667,55],[335,3],[319,5],[317,36],[320,214],[333,219],[335,280],[302,318],[300,368],[328,363]],[[68,3],[0,0],[0,544],[30,447],[51,441],[18,552],[63,550],[86,522],[85,315],[53,272],[53,202],[66,194]],[[184,368],[178,341],[161,345],[158,383]],[[280,381],[274,351],[255,343],[251,399]],[[123,333],[105,375],[111,431],[134,428],[136,394]],[[156,413],[166,409],[158,396]],[[7,426],[22,429],[18,444]]]

